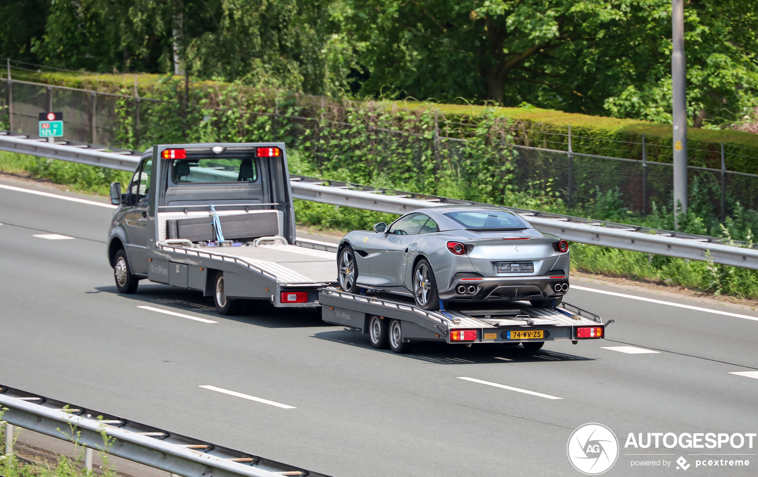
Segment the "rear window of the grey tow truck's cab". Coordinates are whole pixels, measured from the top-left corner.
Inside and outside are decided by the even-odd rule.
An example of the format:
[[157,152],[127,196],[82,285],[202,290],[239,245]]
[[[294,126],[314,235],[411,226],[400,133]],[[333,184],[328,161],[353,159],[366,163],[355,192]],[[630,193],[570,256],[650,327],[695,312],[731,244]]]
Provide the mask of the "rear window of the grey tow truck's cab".
[[175,184],[182,182],[255,182],[258,170],[255,160],[244,159],[177,159],[171,167]]

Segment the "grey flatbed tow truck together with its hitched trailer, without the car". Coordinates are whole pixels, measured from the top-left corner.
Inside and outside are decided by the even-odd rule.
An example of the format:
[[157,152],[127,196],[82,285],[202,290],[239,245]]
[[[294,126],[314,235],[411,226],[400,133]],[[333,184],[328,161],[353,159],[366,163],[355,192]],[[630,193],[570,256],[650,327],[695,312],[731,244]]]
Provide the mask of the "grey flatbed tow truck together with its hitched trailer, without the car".
[[108,260],[121,293],[147,279],[202,292],[222,315],[238,313],[244,300],[321,307],[325,322],[359,329],[374,348],[398,353],[415,341],[539,349],[545,341],[605,338],[612,323],[566,303],[428,311],[381,288],[344,292],[338,245],[296,237],[281,142],[154,145],[126,191],[111,184],[111,203]]

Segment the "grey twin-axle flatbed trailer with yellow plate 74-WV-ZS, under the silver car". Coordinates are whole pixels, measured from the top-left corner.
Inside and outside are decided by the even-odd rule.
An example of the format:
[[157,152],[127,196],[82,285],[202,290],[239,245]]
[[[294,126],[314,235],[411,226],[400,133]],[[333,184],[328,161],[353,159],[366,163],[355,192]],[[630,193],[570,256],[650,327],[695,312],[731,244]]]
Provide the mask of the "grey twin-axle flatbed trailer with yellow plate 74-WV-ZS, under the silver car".
[[[390,295],[375,288],[361,294],[339,288],[321,288],[318,302],[327,323],[359,329],[374,348],[405,353],[418,341],[439,341],[471,346],[474,343],[521,343],[528,350],[545,341],[603,339],[606,323],[594,313],[572,304],[533,307],[528,301],[503,304],[449,303],[437,311],[415,306],[412,298]],[[500,305],[500,306],[498,306]]]

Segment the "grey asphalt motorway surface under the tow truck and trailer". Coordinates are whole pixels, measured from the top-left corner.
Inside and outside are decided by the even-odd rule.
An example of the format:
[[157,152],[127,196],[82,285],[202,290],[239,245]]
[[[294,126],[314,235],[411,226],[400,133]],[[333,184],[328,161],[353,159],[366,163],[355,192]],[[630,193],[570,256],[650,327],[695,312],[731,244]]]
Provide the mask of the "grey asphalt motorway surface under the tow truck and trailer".
[[[758,432],[758,379],[730,374],[758,371],[756,311],[575,283],[756,320],[572,288],[566,301],[615,320],[606,340],[548,342],[535,353],[422,344],[398,355],[313,311],[250,306],[218,316],[199,293],[145,281],[136,295],[118,295],[105,254],[111,213],[0,189],[0,383],[335,477],[581,475],[566,443],[587,422],[619,439],[606,475],[678,472],[679,457],[689,473],[755,474],[758,438],[738,449],[624,444],[630,432]],[[74,239],[33,236],[50,233]],[[620,346],[659,352],[603,348]],[[706,454],[749,454],[727,458],[750,465],[696,467],[724,458]]]

